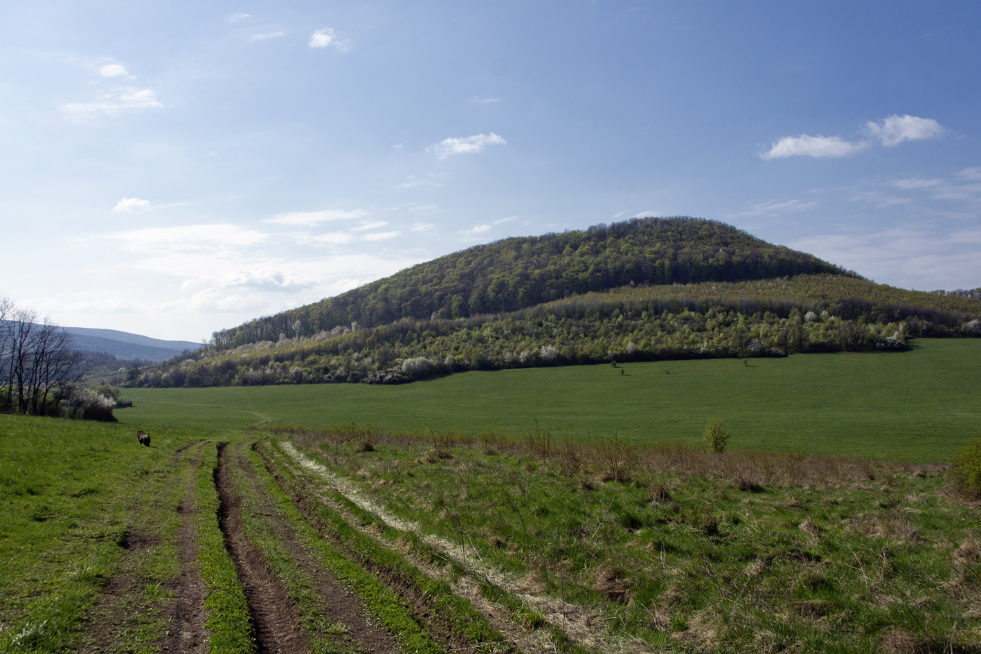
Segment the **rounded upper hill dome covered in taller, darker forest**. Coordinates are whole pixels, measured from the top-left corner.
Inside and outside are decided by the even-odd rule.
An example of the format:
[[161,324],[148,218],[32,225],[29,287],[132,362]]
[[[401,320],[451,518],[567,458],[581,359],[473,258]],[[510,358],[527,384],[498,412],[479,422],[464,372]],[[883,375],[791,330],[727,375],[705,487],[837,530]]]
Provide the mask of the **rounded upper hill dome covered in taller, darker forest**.
[[513,312],[631,284],[742,281],[853,273],[736,227],[693,218],[632,219],[506,238],[406,269],[276,316],[214,333],[219,351],[358,323]]

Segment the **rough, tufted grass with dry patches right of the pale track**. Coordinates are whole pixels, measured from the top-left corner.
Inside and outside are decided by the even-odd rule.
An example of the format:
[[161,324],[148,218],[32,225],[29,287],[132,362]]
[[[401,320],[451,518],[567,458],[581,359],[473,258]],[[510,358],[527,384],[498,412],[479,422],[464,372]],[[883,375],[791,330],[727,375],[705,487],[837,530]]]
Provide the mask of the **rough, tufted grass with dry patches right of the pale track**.
[[[367,451],[363,430],[286,435],[495,571],[491,601],[516,616],[501,595],[521,589],[538,626],[599,650],[977,651],[981,638],[981,525],[937,469],[622,445],[616,479],[596,447],[457,439],[435,455],[408,436],[376,434]],[[783,476],[740,483],[766,466]]]

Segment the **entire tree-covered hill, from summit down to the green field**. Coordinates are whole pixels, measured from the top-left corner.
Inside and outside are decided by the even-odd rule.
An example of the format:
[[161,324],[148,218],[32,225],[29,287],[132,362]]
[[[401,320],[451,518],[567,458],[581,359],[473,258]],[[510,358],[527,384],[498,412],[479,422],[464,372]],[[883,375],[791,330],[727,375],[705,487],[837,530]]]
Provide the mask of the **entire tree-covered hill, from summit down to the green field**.
[[[691,240],[654,239],[665,234]],[[597,252],[580,255],[584,247]],[[597,285],[628,281],[573,293],[568,285],[584,266],[603,271],[587,279]],[[760,278],[808,268],[820,272]],[[668,269],[672,276],[712,279],[643,282]],[[714,279],[726,276],[748,278]],[[468,288],[468,307],[476,306],[475,297],[482,308],[488,297],[521,304],[530,292],[521,285],[526,278],[543,289],[536,293],[558,299],[469,317],[445,317],[445,306],[423,318],[405,315],[426,302],[438,306],[453,290],[459,292],[448,311],[462,311]],[[408,299],[399,305],[399,298]],[[400,317],[381,322],[396,305]],[[190,357],[126,377],[130,385],[151,387],[400,383],[466,370],[898,350],[909,336],[947,335],[981,335],[981,301],[876,284],[718,223],[647,219],[471,248],[217,333]]]

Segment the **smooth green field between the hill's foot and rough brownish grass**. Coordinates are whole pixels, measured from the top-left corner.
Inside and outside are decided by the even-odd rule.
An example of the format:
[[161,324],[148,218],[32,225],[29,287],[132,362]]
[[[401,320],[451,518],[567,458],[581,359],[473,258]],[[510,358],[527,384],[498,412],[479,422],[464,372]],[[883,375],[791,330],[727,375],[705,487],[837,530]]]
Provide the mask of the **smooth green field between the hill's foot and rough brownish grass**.
[[[950,461],[981,432],[981,339],[918,339],[904,353],[810,354],[471,372],[397,386],[127,389],[132,426],[251,424],[393,430],[548,428],[590,441],[700,443],[720,419],[734,449]],[[621,374],[621,371],[623,374]]]

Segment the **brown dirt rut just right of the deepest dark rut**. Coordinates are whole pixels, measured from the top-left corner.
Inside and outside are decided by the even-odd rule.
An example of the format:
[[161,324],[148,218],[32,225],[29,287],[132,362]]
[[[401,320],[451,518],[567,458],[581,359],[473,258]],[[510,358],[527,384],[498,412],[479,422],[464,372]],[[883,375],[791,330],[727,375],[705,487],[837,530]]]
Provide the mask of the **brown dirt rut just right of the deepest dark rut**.
[[357,601],[357,597],[347,591],[334,576],[311,556],[301,545],[295,529],[279,513],[255,469],[248,459],[239,454],[238,468],[248,478],[256,495],[260,498],[263,513],[272,523],[280,542],[295,563],[305,574],[319,599],[322,615],[334,623],[344,626],[346,640],[356,643],[363,652],[397,652],[398,642],[385,629],[373,624],[368,614]]

